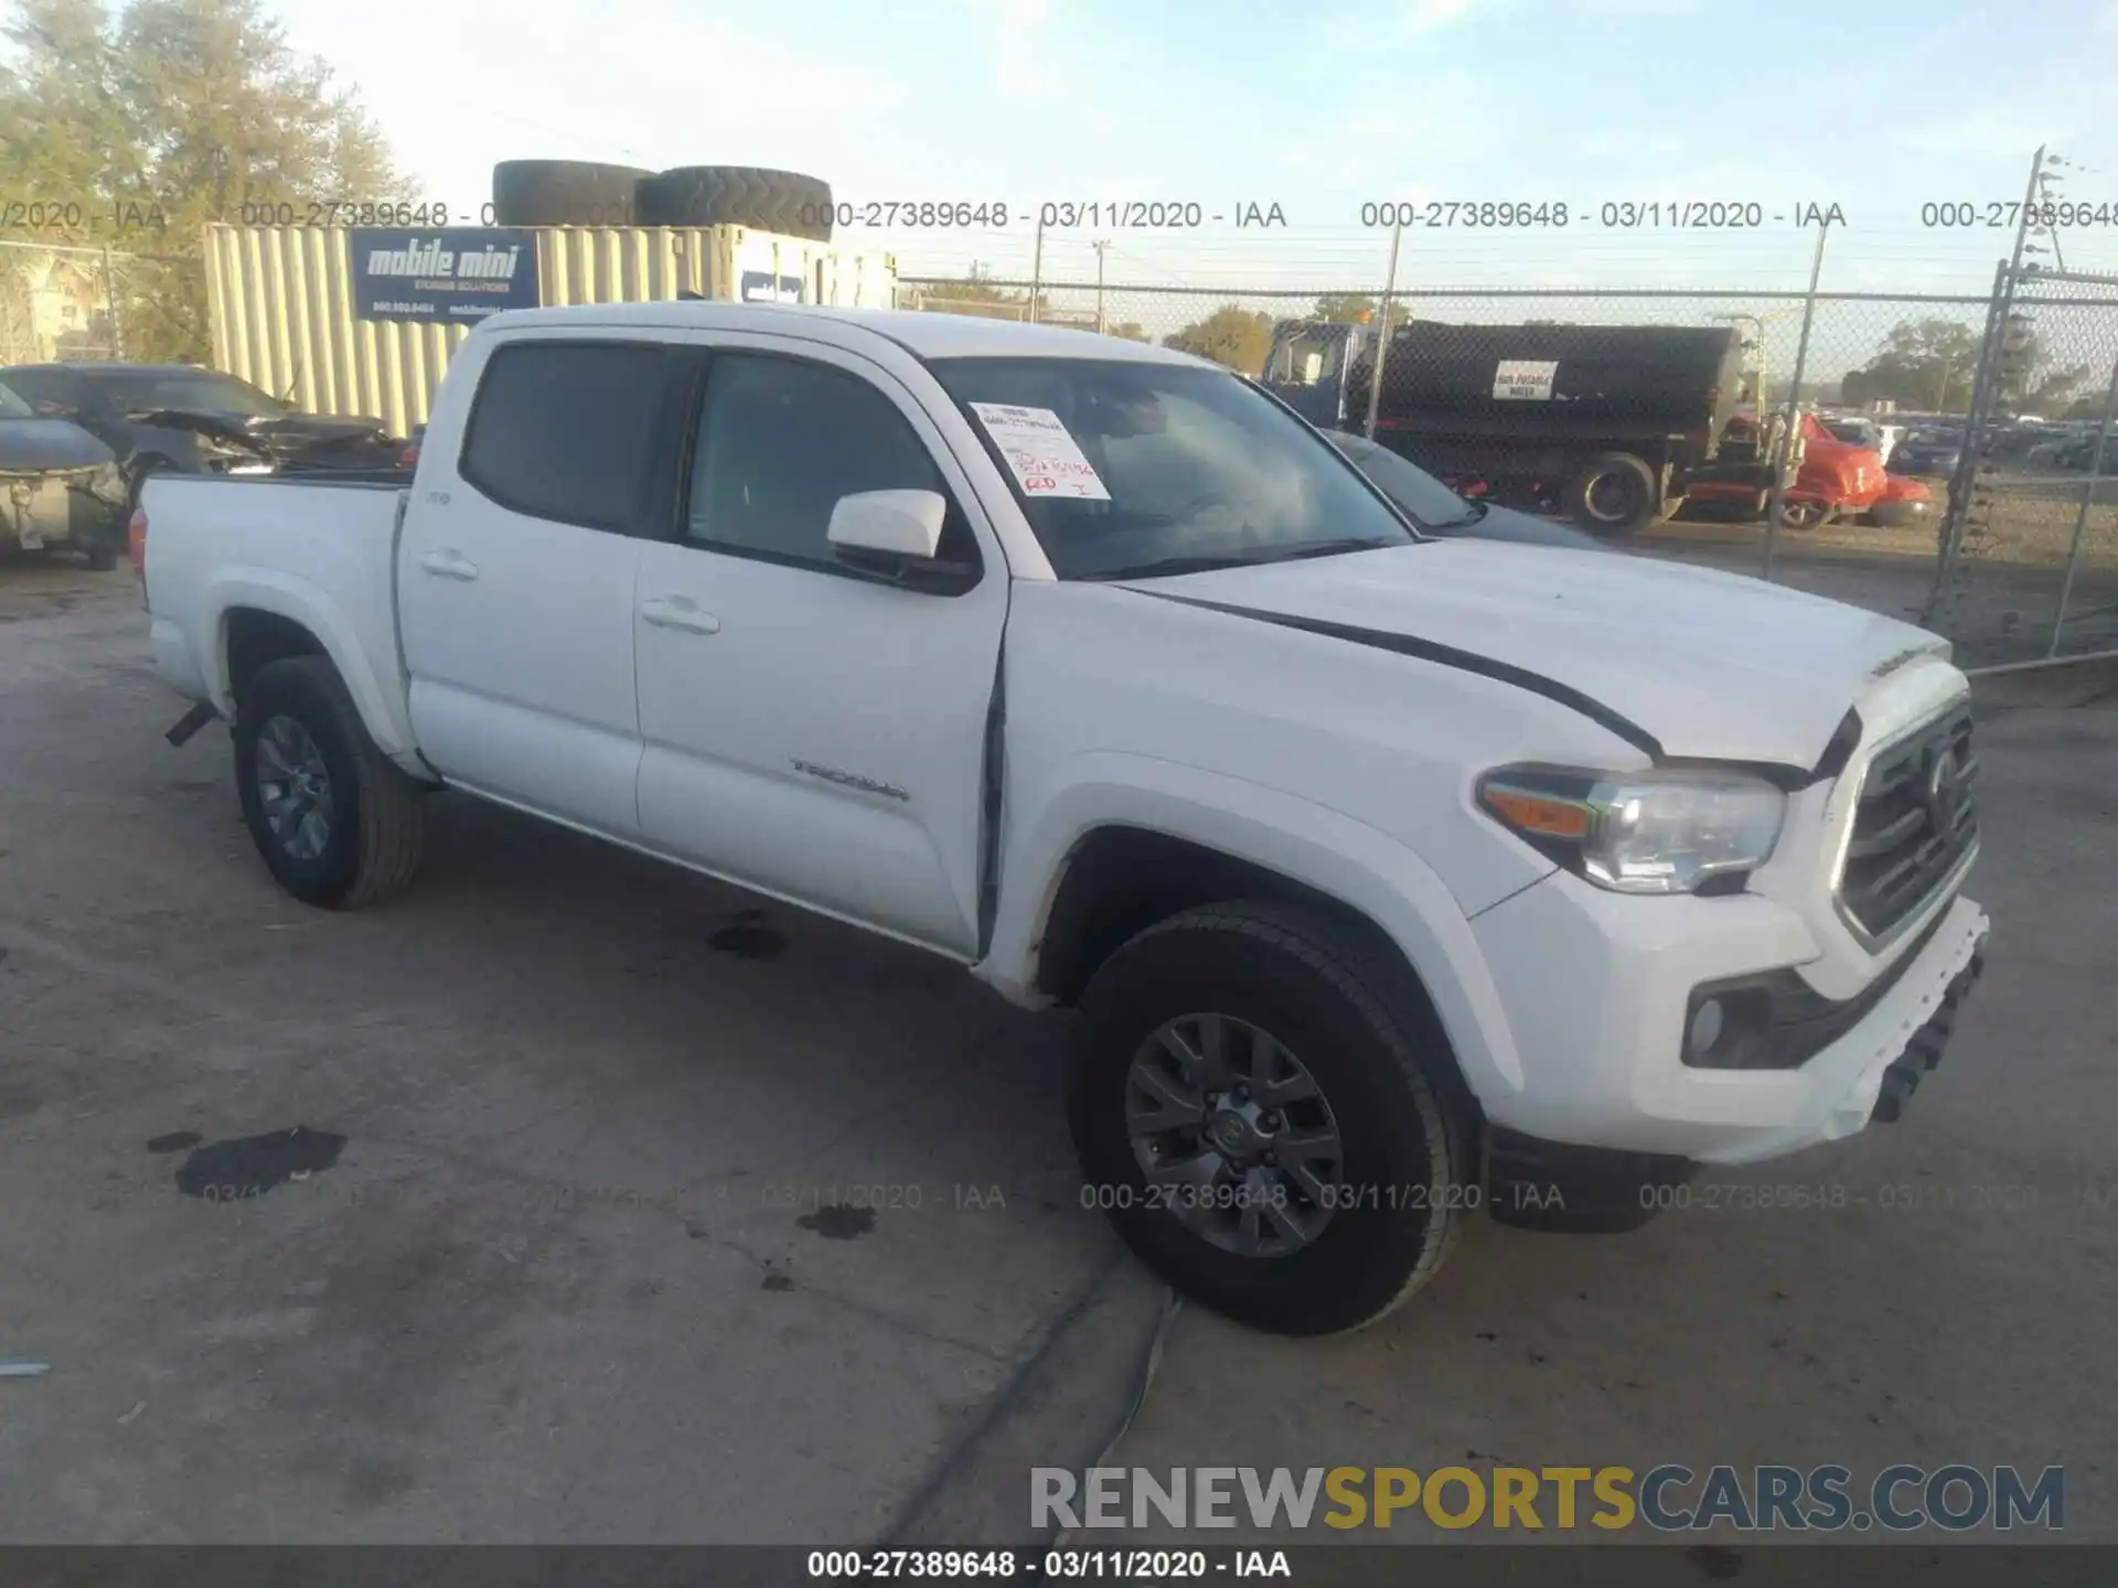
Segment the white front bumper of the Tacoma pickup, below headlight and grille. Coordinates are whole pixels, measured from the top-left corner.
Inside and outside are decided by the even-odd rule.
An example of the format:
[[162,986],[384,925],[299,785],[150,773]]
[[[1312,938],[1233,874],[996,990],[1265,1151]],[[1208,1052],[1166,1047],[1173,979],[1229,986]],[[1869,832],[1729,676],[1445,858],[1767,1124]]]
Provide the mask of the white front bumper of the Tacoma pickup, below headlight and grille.
[[[1906,934],[1889,989],[1796,1069],[1682,1061],[1694,987],[1817,955],[1766,898],[1629,900],[1559,874],[1480,915],[1521,1059],[1519,1086],[1480,1097],[1493,1126],[1550,1143],[1743,1165],[1893,1118],[1955,1023],[1989,921],[1968,898]],[[1893,1069],[1896,1067],[1896,1069]]]

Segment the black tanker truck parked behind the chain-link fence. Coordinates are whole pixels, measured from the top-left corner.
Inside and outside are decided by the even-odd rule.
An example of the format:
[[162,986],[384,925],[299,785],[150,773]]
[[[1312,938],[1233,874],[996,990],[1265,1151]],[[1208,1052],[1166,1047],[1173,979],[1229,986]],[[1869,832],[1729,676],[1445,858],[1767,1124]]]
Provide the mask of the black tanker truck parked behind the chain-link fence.
[[[1366,430],[1377,330],[1292,322],[1262,383],[1311,423]],[[1396,326],[1375,438],[1459,487],[1559,504],[1625,536],[1684,502],[1743,400],[1735,326]],[[1743,443],[1730,443],[1741,447]]]

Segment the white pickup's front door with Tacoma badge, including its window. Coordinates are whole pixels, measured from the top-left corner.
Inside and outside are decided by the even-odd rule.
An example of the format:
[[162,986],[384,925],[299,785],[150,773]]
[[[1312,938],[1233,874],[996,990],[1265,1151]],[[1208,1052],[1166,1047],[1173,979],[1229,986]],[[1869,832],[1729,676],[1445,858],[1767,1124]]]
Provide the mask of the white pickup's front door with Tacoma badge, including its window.
[[[949,500],[936,589],[826,542],[839,498]],[[970,959],[1008,578],[919,402],[858,354],[710,351],[676,536],[640,563],[640,819],[674,855]]]

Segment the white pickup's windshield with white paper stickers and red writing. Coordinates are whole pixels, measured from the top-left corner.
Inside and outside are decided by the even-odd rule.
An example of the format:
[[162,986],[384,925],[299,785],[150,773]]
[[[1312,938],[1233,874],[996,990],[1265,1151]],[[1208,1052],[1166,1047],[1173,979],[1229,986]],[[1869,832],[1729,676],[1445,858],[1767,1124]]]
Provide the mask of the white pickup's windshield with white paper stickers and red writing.
[[[951,358],[934,373],[995,443],[1029,527],[1059,578],[1171,574],[1332,551],[1404,546],[1417,536],[1328,445],[1262,392],[1222,371],[1087,358]],[[1051,440],[1017,445],[1006,415]],[[998,434],[995,434],[998,428]],[[1042,462],[1093,474],[1074,495]],[[1078,466],[1074,466],[1078,468]],[[1025,489],[1025,479],[1031,485]]]

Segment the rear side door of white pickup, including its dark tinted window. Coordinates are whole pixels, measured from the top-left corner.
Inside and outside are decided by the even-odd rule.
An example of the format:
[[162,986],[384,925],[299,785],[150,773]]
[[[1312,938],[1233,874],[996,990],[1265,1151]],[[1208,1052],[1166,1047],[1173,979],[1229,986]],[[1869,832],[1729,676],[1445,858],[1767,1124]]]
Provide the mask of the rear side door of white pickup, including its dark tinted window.
[[684,354],[595,335],[483,354],[451,371],[477,377],[462,449],[424,459],[398,548],[413,728],[449,781],[633,838],[633,582],[669,519]]

